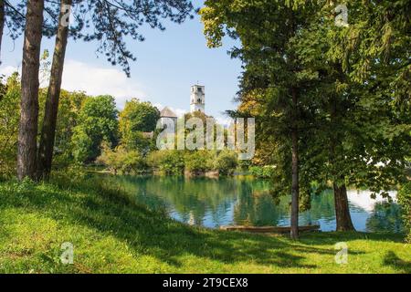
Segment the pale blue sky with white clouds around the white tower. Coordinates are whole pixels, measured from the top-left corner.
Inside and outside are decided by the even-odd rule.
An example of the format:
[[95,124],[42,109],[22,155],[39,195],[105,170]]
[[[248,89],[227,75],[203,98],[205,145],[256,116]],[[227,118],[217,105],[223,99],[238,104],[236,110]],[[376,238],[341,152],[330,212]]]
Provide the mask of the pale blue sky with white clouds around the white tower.
[[[203,1],[195,0],[196,7]],[[132,77],[113,67],[96,53],[97,44],[68,40],[63,72],[63,89],[84,90],[90,95],[110,94],[119,109],[125,100],[149,100],[162,110],[170,107],[181,115],[190,109],[190,87],[205,86],[205,113],[224,120],[225,110],[234,110],[241,63],[228,56],[236,43],[226,38],[223,47],[206,47],[199,16],[177,25],[164,21],[165,31],[142,27],[144,42],[128,41],[137,57],[131,64]],[[6,34],[6,32],[5,32]],[[6,35],[1,47],[0,74],[21,68],[23,37],[12,41]],[[42,50],[53,52],[54,38],[43,37]]]

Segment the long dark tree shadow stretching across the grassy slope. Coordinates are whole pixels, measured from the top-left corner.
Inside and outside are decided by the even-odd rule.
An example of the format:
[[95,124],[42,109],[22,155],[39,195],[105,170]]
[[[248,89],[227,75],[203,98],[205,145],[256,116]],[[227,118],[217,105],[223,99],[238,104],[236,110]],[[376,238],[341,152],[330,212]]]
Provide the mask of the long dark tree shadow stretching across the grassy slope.
[[[182,266],[181,256],[195,255],[222,264],[257,263],[265,266],[315,268],[304,260],[310,255],[330,255],[341,241],[332,235],[304,235],[300,242],[284,236],[250,235],[239,232],[206,230],[169,219],[135,203],[118,191],[61,192],[39,187],[36,193],[15,196],[3,203],[37,209],[56,220],[64,218],[127,243],[137,255],[152,255],[170,266]],[[327,240],[325,240],[327,239]],[[338,240],[337,240],[338,239]],[[325,241],[324,241],[325,240]],[[361,254],[350,251],[350,253]],[[304,256],[306,255],[306,256]]]

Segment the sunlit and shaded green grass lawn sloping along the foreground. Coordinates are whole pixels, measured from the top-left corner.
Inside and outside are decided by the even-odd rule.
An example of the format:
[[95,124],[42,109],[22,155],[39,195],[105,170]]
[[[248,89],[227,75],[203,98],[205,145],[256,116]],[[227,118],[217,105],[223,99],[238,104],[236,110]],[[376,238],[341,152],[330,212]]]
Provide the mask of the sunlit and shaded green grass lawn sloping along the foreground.
[[[64,242],[73,265],[60,262]],[[334,261],[346,242],[348,264]],[[401,235],[248,235],[190,227],[90,181],[0,183],[1,273],[410,273]]]

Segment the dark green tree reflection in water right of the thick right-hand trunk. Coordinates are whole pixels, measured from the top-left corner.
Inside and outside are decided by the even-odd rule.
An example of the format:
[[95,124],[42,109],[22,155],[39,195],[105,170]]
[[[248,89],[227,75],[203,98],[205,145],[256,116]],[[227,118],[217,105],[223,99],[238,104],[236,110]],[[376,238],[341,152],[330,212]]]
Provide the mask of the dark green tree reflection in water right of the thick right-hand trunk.
[[402,232],[401,208],[396,203],[375,203],[373,214],[366,222],[368,232]]

